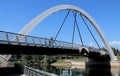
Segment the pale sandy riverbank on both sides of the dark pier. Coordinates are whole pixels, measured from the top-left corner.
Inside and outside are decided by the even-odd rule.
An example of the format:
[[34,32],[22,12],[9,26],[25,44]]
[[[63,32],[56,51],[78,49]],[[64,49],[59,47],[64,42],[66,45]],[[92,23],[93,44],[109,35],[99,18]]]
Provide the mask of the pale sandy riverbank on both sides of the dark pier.
[[[61,66],[65,68],[85,68],[85,61],[61,60],[51,64],[52,66]],[[120,61],[110,62],[111,69],[120,68]]]

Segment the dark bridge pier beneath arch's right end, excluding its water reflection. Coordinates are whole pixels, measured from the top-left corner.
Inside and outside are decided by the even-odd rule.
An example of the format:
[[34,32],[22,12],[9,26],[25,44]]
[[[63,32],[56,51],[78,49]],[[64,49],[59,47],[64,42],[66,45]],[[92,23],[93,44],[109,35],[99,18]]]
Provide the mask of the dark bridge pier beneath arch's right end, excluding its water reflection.
[[88,61],[86,62],[86,68],[111,68],[110,56],[100,55],[98,52],[90,52],[88,56]]

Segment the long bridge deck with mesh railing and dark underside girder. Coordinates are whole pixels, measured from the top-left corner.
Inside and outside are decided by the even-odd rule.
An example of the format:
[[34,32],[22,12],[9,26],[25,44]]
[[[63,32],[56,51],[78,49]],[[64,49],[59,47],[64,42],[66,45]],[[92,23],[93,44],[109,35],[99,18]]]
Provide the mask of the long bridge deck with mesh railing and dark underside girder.
[[79,54],[81,45],[0,31],[0,54]]

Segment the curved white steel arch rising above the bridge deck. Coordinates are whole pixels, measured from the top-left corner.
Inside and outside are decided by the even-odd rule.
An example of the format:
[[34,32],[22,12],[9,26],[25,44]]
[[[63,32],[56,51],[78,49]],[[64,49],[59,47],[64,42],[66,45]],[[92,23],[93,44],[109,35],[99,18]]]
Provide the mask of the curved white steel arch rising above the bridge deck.
[[75,10],[75,11],[81,13],[83,16],[85,16],[91,22],[91,24],[94,26],[94,28],[100,35],[103,43],[105,44],[107,52],[110,55],[111,60],[112,61],[116,60],[117,58],[115,57],[113,50],[111,49],[108,41],[106,40],[101,28],[96,23],[96,21],[87,12],[85,12],[81,8],[73,6],[73,5],[59,5],[59,6],[55,6],[55,7],[52,7],[50,9],[44,11],[43,13],[36,16],[33,20],[31,20],[22,30],[20,30],[19,34],[27,35],[34,27],[37,26],[38,23],[40,23],[42,20],[44,20],[47,16],[51,15],[54,12],[57,12],[60,10],[66,10],[66,9]]

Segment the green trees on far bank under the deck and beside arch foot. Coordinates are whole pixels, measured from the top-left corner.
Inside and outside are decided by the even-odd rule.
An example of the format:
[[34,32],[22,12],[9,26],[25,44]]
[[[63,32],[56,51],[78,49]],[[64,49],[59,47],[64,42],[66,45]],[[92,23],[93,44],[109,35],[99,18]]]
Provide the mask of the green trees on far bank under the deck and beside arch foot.
[[[120,60],[120,50],[113,48],[113,52],[114,54],[118,57],[118,59]],[[106,51],[105,48],[102,48],[102,50]],[[61,59],[70,59],[73,61],[86,61],[87,57],[80,57],[80,56],[60,56],[60,55],[56,55],[56,56],[47,56],[47,55],[13,55],[11,61],[14,62],[21,62],[24,64],[29,64],[29,63],[45,63],[45,64],[51,64],[54,62],[62,62],[64,63],[65,61],[62,61]]]

